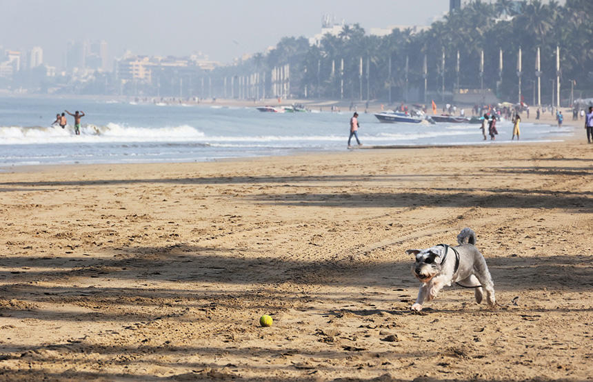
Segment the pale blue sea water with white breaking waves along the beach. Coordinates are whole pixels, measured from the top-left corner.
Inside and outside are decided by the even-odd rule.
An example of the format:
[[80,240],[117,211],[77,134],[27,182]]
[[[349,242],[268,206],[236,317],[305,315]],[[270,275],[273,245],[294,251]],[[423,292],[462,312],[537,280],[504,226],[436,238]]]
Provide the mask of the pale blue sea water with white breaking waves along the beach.
[[[329,109],[329,108],[326,108]],[[82,110],[62,129],[57,113]],[[492,144],[479,125],[380,123],[360,113],[364,145]],[[61,163],[148,163],[345,151],[352,112],[272,113],[216,103],[136,103],[63,98],[0,98],[0,166]],[[512,123],[496,123],[494,143],[508,142]],[[521,141],[560,141],[571,128],[521,123]],[[354,140],[354,138],[353,138]],[[356,144],[353,141],[352,144]]]

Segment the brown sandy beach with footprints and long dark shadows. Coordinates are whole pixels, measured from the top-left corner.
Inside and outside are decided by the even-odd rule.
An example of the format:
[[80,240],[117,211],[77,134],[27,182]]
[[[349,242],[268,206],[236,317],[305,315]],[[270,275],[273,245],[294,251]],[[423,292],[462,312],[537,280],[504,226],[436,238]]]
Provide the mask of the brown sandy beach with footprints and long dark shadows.
[[[591,379],[578,138],[0,172],[0,380]],[[412,314],[464,227],[499,306]]]

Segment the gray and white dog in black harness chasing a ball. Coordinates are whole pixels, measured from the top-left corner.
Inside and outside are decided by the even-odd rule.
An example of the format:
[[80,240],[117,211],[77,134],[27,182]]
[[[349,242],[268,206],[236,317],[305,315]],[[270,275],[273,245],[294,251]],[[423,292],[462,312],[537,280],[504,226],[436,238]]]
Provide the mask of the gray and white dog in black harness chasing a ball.
[[475,288],[476,302],[482,302],[484,290],[486,301],[494,306],[494,282],[488,265],[480,251],[474,246],[476,234],[470,228],[463,228],[457,235],[459,245],[435,245],[425,250],[407,250],[414,254],[416,263],[412,272],[421,282],[416,303],[411,309],[420,311],[425,301],[430,301],[445,286],[457,283],[467,288]]

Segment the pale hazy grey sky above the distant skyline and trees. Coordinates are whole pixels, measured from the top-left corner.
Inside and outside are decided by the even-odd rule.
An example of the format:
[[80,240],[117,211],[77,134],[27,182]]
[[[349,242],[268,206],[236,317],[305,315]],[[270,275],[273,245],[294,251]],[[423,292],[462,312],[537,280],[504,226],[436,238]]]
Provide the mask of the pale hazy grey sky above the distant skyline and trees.
[[231,62],[263,52],[284,36],[312,37],[321,17],[365,29],[428,25],[448,0],[0,0],[0,46],[43,48],[61,67],[70,40],[105,40],[110,58],[134,54],[203,52]]

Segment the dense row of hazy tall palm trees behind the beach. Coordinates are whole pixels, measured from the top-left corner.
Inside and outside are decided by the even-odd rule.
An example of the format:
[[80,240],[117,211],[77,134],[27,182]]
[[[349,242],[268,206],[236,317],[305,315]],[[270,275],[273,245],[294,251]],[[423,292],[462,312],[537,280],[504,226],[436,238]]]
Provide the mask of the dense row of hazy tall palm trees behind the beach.
[[[484,86],[501,99],[515,99],[519,48],[523,93],[531,94],[540,48],[541,83],[543,92],[550,94],[546,87],[552,86],[548,79],[556,78],[555,52],[560,46],[562,81],[572,82],[575,97],[593,97],[592,15],[591,0],[567,0],[564,6],[556,1],[476,0],[417,34],[396,29],[385,37],[370,36],[354,24],[344,26],[338,36],[325,35],[319,46],[310,46],[304,37],[285,37],[268,54],[255,54],[213,74],[269,72],[288,63],[293,97],[306,93],[314,98],[421,101],[427,97],[426,83],[431,97],[450,97],[458,88]],[[269,82],[258,84],[268,89],[266,94],[271,94]],[[568,99],[570,86],[562,89],[562,98]]]

